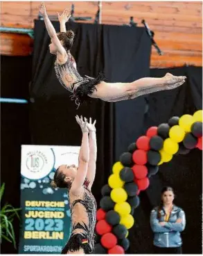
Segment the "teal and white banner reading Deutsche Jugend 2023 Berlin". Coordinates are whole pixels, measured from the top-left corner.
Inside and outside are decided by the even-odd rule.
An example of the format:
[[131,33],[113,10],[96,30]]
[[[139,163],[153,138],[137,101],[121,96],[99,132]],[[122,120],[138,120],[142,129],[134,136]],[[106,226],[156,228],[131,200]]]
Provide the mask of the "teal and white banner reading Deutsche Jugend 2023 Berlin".
[[71,232],[66,189],[51,180],[62,164],[78,166],[80,147],[21,145],[19,254],[60,254]]

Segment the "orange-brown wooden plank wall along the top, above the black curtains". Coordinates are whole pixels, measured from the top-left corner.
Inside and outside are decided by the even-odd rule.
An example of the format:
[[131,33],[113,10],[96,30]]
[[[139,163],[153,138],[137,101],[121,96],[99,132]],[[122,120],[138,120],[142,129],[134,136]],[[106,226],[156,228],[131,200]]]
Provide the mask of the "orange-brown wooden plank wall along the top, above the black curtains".
[[[37,19],[36,1],[1,2],[1,26],[33,28]],[[91,17],[93,23],[98,10],[97,1],[46,2],[48,15],[56,15],[75,5],[76,17]],[[107,1],[102,2],[102,24],[129,24],[130,16],[138,26],[141,20],[155,32],[155,41],[164,56],[152,47],[151,67],[181,65],[202,66],[202,1]],[[1,33],[1,54],[26,56],[33,51],[28,35]]]

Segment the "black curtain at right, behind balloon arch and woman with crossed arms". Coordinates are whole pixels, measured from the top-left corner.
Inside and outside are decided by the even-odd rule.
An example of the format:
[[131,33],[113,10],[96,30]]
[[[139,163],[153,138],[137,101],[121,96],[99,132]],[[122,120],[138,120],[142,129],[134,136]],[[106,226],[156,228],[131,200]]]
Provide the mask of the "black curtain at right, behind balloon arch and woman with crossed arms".
[[[188,79],[175,90],[149,95],[148,111],[141,118],[136,118],[136,123],[142,123],[139,136],[153,125],[168,122],[173,115],[193,114],[202,109],[202,67],[152,69],[150,77],[163,77],[167,72],[186,75]],[[129,115],[129,119],[133,120],[131,111]],[[131,122],[127,122],[125,127],[130,125]],[[130,230],[129,253],[153,253],[149,217],[152,207],[159,205],[163,186],[175,189],[175,203],[186,213],[186,229],[182,232],[184,253],[202,253],[202,152],[196,149],[187,155],[173,157],[172,161],[160,166],[157,175],[150,178],[150,186],[140,194],[141,205],[134,213],[135,225]]]

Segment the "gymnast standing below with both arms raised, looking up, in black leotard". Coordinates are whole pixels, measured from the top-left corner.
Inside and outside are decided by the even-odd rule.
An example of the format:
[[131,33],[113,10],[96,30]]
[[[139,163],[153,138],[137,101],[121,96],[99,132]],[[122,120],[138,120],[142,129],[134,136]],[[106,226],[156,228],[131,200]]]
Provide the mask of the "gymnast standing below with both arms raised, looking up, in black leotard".
[[60,166],[51,185],[68,190],[71,208],[71,237],[62,254],[89,254],[94,250],[94,227],[96,225],[96,200],[91,186],[96,173],[96,127],[87,119],[76,116],[82,131],[82,144],[78,168],[74,165]]

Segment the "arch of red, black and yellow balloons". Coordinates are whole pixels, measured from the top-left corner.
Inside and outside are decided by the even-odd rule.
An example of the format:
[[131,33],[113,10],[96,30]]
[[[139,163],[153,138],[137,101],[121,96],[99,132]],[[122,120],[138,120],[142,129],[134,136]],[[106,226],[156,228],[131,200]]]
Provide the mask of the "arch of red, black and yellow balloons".
[[187,154],[195,147],[202,150],[202,110],[150,127],[145,136],[130,144],[101,190],[103,198],[96,215],[99,242],[94,253],[125,254],[130,246],[127,230],[134,225],[134,209],[139,206],[140,191],[150,184],[149,177],[173,155]]

